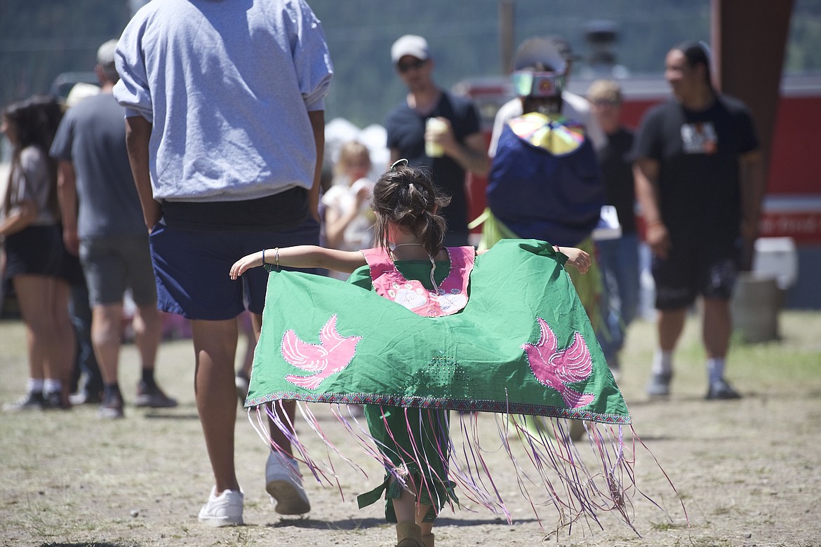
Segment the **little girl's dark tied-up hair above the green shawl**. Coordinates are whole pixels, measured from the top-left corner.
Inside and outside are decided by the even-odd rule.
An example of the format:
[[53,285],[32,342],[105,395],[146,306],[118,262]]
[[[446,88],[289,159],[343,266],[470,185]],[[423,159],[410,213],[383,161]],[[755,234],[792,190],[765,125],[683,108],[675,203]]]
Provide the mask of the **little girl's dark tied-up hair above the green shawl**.
[[376,244],[388,248],[388,228],[399,226],[422,239],[435,257],[442,248],[447,223],[439,214],[451,198],[439,194],[427,169],[406,164],[391,167],[374,185]]

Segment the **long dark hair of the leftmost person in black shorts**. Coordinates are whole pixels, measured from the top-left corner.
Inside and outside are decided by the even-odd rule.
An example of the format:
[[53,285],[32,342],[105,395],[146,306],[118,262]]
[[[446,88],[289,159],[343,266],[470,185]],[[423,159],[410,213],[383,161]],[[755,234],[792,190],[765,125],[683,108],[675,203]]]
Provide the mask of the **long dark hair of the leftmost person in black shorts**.
[[[11,166],[20,166],[20,153],[24,148],[36,146],[40,148],[48,162],[48,175],[51,180],[51,190],[48,193],[48,208],[59,217],[57,204],[57,161],[48,155],[54,135],[57,134],[57,125],[62,120],[62,107],[57,99],[51,95],[34,95],[17,103],[11,103],[2,109],[2,116],[14,124],[17,133],[17,142],[11,155]],[[11,169],[13,173],[14,168]],[[11,175],[10,175],[11,176]],[[11,189],[11,184],[9,185]],[[7,197],[8,199],[8,197]],[[7,201],[6,199],[6,201]],[[8,205],[8,203],[6,203]]]

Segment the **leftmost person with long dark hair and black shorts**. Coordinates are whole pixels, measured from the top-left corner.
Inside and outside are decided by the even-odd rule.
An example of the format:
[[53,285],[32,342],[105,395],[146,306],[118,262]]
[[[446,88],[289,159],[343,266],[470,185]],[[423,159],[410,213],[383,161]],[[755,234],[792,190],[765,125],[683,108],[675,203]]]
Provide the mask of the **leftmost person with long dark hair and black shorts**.
[[0,131],[12,146],[11,173],[0,204],[4,276],[14,285],[25,321],[29,379],[25,396],[4,410],[71,408],[68,380],[75,337],[63,278],[57,170],[48,157],[62,116],[54,98],[35,96],[2,111]]

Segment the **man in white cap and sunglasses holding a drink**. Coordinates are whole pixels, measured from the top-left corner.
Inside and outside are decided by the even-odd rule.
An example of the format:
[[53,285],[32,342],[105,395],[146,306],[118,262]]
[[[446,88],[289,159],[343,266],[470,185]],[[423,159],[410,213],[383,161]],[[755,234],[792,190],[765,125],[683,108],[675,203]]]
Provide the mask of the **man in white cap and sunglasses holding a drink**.
[[[479,114],[473,103],[433,82],[433,59],[421,36],[406,34],[397,39],[391,47],[391,61],[408,94],[385,120],[390,162],[406,157],[411,166],[429,166],[433,182],[451,196],[450,205],[443,209],[448,229],[445,245],[466,245],[466,171],[477,175],[488,171]],[[434,121],[427,124],[430,119]],[[427,151],[426,140],[433,144]]]

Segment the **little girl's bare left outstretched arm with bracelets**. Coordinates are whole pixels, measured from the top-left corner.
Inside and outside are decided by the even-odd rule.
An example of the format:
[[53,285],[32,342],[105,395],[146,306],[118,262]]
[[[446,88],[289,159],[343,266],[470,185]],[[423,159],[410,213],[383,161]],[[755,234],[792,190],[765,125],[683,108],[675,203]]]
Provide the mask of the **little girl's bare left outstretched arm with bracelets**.
[[265,248],[240,258],[231,267],[229,275],[236,279],[250,270],[265,263],[273,266],[295,268],[326,268],[328,270],[350,273],[360,266],[365,266],[365,255],[360,251],[337,251],[333,248],[316,245],[297,245],[296,247]]

